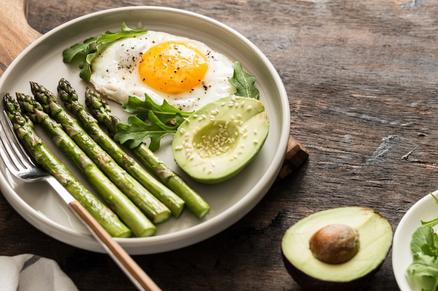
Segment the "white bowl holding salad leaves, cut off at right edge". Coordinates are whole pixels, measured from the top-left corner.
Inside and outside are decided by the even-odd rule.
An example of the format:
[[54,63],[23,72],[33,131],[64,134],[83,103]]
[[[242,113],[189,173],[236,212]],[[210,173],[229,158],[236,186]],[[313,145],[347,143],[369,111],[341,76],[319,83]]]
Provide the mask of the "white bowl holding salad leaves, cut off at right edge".
[[[438,191],[432,193],[438,195]],[[438,217],[438,204],[428,194],[416,202],[397,225],[393,241],[393,271],[401,291],[421,291],[415,282],[408,281],[406,270],[412,262],[411,238],[421,221],[431,221]],[[437,228],[435,228],[437,231]]]

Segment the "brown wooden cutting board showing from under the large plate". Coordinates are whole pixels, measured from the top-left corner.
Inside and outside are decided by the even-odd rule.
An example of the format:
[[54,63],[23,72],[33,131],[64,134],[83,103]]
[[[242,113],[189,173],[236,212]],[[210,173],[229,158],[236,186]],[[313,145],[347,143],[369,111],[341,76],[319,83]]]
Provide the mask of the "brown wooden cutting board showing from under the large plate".
[[[26,0],[0,0],[0,76],[12,61],[41,33],[27,22]],[[309,151],[292,136],[288,140],[285,161],[278,174],[283,179],[302,165],[309,157]]]

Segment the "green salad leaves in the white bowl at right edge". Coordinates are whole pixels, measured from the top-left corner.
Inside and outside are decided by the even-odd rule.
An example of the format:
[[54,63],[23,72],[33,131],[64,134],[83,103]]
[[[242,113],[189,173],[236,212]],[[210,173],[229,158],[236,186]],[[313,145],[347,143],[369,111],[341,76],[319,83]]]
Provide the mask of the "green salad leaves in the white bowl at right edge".
[[[438,204],[437,197],[433,197]],[[407,269],[407,275],[418,282],[422,290],[438,291],[438,234],[433,229],[438,219],[421,223],[412,234],[413,261]]]

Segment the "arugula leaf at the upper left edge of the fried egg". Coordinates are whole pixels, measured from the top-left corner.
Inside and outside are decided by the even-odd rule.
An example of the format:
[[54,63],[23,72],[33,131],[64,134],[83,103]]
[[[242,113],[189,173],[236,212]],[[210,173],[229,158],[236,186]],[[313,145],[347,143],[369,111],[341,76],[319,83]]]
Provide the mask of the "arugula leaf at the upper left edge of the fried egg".
[[77,43],[62,52],[64,63],[71,63],[73,59],[80,61],[80,77],[86,82],[90,81],[91,63],[106,47],[115,43],[122,38],[138,36],[146,33],[145,30],[134,30],[127,27],[125,22],[122,23],[120,32],[106,31],[99,37],[92,37],[84,40],[83,43]]

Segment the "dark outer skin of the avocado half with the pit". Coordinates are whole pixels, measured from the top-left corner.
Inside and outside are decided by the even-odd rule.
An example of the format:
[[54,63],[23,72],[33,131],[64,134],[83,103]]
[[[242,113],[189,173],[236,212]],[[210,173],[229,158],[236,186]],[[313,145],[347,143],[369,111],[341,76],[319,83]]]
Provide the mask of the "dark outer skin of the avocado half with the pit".
[[[389,253],[389,251],[388,251]],[[388,253],[386,255],[388,255]],[[333,282],[333,281],[323,281],[318,278],[313,278],[312,276],[309,276],[305,274],[304,272],[300,271],[295,267],[292,263],[288,261],[288,259],[283,254],[283,251],[281,251],[281,257],[283,258],[283,263],[285,265],[286,270],[288,271],[289,275],[294,279],[295,282],[297,282],[302,288],[309,290],[309,291],[354,291],[358,290],[359,288],[363,288],[369,281],[371,281],[374,274],[376,274],[377,271],[381,268],[383,260],[376,269],[369,272],[365,276],[362,276],[360,278],[357,278],[353,281],[348,282]]]

